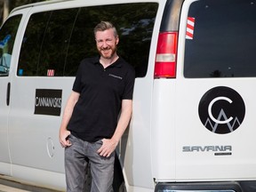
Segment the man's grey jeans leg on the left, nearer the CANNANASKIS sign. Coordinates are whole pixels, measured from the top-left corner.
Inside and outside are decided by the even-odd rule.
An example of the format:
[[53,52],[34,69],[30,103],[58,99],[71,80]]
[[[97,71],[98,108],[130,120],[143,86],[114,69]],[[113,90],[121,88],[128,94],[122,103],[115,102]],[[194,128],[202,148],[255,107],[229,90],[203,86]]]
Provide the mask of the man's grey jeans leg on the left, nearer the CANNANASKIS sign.
[[84,156],[84,141],[71,135],[72,145],[65,148],[65,171],[67,192],[84,191],[85,171],[88,165]]

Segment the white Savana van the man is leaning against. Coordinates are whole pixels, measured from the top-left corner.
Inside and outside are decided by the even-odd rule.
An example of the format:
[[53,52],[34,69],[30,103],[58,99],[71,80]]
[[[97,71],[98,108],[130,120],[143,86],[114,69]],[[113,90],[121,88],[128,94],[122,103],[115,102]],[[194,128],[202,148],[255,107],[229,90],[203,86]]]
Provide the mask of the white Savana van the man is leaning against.
[[98,54],[100,20],[116,25],[117,52],[136,70],[115,191],[255,192],[255,0],[63,0],[13,10],[0,30],[2,177],[65,190],[61,116],[80,60]]

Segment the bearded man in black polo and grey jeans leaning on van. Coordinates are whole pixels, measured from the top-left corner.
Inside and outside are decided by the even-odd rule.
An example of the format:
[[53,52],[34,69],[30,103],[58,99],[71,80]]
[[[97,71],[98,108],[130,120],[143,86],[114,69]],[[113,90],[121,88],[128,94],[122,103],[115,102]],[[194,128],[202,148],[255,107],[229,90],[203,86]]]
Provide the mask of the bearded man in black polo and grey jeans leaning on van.
[[94,36],[100,57],[81,62],[60,124],[68,192],[84,191],[88,163],[91,191],[113,191],[115,148],[132,116],[135,75],[116,53],[116,28],[102,21]]

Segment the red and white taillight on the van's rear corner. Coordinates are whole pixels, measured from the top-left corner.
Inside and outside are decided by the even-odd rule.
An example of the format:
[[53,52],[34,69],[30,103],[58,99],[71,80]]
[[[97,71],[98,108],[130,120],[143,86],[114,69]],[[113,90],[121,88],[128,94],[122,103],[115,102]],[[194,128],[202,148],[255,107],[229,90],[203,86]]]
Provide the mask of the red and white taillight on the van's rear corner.
[[156,48],[155,78],[176,77],[177,41],[178,32],[159,34]]

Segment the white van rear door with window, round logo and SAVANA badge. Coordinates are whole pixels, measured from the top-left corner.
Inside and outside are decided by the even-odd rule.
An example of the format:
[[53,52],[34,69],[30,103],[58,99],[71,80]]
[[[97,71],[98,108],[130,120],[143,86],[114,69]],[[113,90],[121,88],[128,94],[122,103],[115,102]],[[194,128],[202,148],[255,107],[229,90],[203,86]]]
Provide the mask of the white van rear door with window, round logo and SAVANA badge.
[[176,77],[176,180],[255,179],[256,4],[185,1]]

